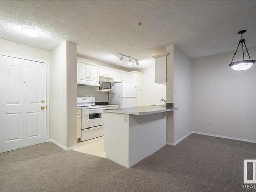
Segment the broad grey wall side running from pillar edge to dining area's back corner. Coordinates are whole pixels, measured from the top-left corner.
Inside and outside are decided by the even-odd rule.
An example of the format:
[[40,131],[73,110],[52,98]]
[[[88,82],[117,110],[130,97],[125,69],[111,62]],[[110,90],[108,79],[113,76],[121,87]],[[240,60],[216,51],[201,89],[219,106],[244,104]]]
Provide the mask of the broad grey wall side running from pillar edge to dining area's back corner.
[[192,61],[177,46],[174,46],[174,142],[192,131]]

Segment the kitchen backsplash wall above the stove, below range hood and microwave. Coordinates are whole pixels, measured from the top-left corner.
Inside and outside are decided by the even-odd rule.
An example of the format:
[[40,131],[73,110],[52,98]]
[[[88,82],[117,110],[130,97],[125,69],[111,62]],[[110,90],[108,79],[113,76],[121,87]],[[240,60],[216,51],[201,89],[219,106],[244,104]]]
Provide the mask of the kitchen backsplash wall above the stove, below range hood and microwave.
[[77,96],[93,96],[95,97],[96,102],[108,102],[109,94],[104,92],[94,91],[94,87],[92,86],[77,86]]

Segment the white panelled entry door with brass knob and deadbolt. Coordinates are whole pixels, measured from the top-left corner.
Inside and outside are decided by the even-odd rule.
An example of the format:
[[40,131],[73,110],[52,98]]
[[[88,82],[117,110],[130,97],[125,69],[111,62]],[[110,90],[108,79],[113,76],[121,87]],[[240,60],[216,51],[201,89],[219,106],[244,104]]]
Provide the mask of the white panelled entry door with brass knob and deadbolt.
[[46,142],[46,64],[0,55],[0,153]]

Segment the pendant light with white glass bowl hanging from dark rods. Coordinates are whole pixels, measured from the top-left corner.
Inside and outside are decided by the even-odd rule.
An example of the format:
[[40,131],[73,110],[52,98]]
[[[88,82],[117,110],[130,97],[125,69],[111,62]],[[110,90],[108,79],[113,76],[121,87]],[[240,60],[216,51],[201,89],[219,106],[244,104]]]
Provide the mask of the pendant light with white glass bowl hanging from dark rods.
[[[247,47],[246,47],[246,45],[245,45],[245,40],[243,39],[243,33],[245,33],[245,32],[246,32],[246,30],[242,30],[242,31],[239,31],[239,32],[238,32],[238,34],[241,34],[241,40],[239,40],[238,47],[239,47],[240,44],[242,45],[243,60],[233,62],[234,56],[236,55],[237,50],[238,50],[238,47],[237,47],[236,52],[234,52],[234,56],[233,56],[233,58],[232,58],[232,61],[231,61],[231,63],[229,64],[229,66],[230,66],[233,70],[236,70],[236,71],[242,71],[242,70],[249,69],[249,68],[256,62],[255,60],[251,60],[251,57],[250,57],[249,52],[248,52],[248,49],[247,49]],[[247,51],[249,60],[244,60],[244,47],[245,47],[245,49],[246,49],[246,51]]]

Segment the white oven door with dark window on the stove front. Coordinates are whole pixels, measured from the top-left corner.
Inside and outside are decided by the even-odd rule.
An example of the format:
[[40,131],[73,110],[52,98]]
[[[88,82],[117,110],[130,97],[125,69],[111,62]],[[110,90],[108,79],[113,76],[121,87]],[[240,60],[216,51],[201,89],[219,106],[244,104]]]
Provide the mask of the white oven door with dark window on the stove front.
[[103,109],[86,109],[82,110],[82,129],[101,126],[103,122]]

